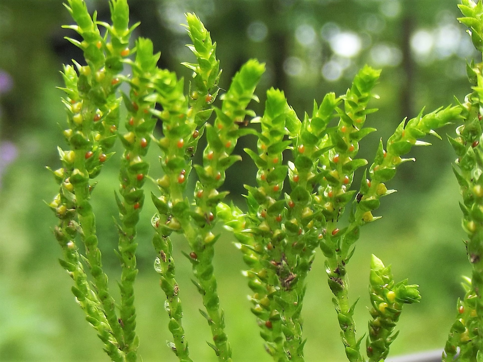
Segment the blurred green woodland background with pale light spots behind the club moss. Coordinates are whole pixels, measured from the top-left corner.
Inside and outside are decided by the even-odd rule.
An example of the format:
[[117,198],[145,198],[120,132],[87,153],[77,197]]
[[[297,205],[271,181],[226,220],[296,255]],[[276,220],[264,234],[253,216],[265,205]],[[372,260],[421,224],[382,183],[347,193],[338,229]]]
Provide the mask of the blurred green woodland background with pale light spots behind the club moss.
[[[108,17],[107,0],[88,1],[101,20]],[[300,117],[328,91],[342,94],[356,70],[368,63],[383,69],[377,86],[380,100],[372,107],[368,125],[378,128],[361,145],[372,159],[380,137],[387,139],[402,118],[414,117],[462,99],[469,93],[466,59],[481,58],[473,51],[463,26],[455,20],[456,0],[131,0],[132,22],[141,21],[136,35],[153,39],[162,52],[160,67],[190,76],[179,65],[189,61],[185,12],[196,12],[218,43],[223,75],[220,86],[250,57],[267,63],[257,90],[262,104],[270,86],[283,88]],[[61,0],[0,1],[0,361],[108,361],[94,330],[84,320],[70,292],[71,279],[58,265],[60,249],[51,233],[56,218],[43,200],[57,193],[45,166],[57,168],[56,146],[64,145],[57,124],[65,114],[58,70],[82,54],[63,39],[71,36],[62,24],[71,23]],[[480,55],[481,56],[481,55]],[[257,113],[260,105],[254,104]],[[441,135],[453,134],[448,126]],[[416,163],[399,167],[388,184],[398,193],[384,198],[377,223],[363,229],[348,267],[350,296],[361,296],[355,320],[358,333],[366,330],[369,257],[376,253],[393,265],[398,279],[421,285],[423,299],[407,307],[399,323],[401,333],[392,355],[442,348],[462,295],[460,276],[469,274],[460,229],[459,193],[451,172],[454,158],[449,143],[433,138],[433,146],[415,149]],[[255,140],[243,139],[242,147]],[[160,174],[156,148],[152,176]],[[239,203],[243,183],[254,183],[250,160],[229,171],[226,188]],[[231,177],[230,177],[231,176]],[[357,176],[359,179],[361,175]],[[112,290],[120,276],[113,249],[117,188],[116,161],[106,165],[94,193],[100,248]],[[355,185],[358,181],[355,181]],[[136,286],[138,331],[142,361],[176,361],[165,341],[170,339],[164,297],[152,267],[150,218],[146,204],[139,225],[139,268]],[[255,317],[246,298],[249,289],[240,270],[241,254],[225,233],[217,244],[215,273],[235,361],[270,361],[258,336]],[[199,295],[189,281],[188,251],[175,239],[178,281],[184,300],[185,330],[192,356],[215,361],[205,341],[209,328],[199,314]],[[309,277],[303,316],[307,361],[343,361],[339,326],[319,252]]]

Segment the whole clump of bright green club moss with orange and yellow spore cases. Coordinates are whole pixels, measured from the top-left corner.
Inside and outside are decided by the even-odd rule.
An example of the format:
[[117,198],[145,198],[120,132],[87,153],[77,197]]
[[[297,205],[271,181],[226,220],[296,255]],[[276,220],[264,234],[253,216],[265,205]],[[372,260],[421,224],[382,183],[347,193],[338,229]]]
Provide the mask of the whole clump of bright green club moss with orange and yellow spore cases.
[[[460,21],[470,27],[473,43],[481,51],[483,4],[462,2],[465,17]],[[365,66],[345,94],[328,93],[301,118],[287,104],[284,92],[271,88],[265,111],[257,116],[248,107],[252,100],[258,101],[255,90],[264,64],[254,59],[246,62],[227,91],[217,97],[221,69],[216,43],[196,15],[186,14],[185,27],[192,41],[188,48],[196,62],[183,63],[193,71],[185,84],[175,73],[157,67],[159,53],[154,54],[150,40],[130,39],[139,24],[129,27],[127,0],[111,0],[111,23],[97,21],[96,13],[88,13],[84,0],[68,0],[66,8],[76,23],[67,28],[82,38],[67,39],[83,50],[86,65],[74,61],[62,71],[65,86],[60,89],[66,94],[62,101],[68,115],[63,133],[68,150],[58,149],[62,166],[52,173],[59,193],[49,206],[59,219],[54,234],[63,251],[60,264],[73,279],[76,301],[112,361],[134,362],[140,357],[134,282],[137,245],[147,242],[136,235],[146,200],[146,180],[159,188],[147,198],[157,209],[151,220],[157,254],[154,269],[166,294],[168,328],[173,337],[168,346],[180,361],[196,361],[196,357],[189,355],[182,322],[181,287],[176,281],[170,239],[173,233],[183,235],[190,250],[185,256],[204,306],[200,313],[212,332],[213,342],[208,344],[219,361],[232,361],[223,296],[218,294],[213,268],[214,247],[220,238],[214,228],[218,222],[236,237],[236,246],[248,266],[244,275],[252,291],[251,310],[265,349],[275,361],[304,361],[302,307],[306,278],[319,248],[348,360],[384,361],[398,334],[394,330],[403,305],[420,299],[418,286],[409,285],[407,280],[396,282],[390,266],[373,255],[369,329],[357,335],[353,319],[357,299],[349,299],[346,266],[361,227],[380,218],[373,212],[381,198],[395,192],[385,183],[394,178],[400,164],[414,161],[402,157],[413,146],[429,145],[421,140],[426,135],[439,137],[436,129],[461,119],[458,136],[450,142],[458,155],[455,174],[463,193],[463,226],[469,234],[466,245],[473,275],[467,280],[466,297],[458,301],[458,319],[443,358],[451,361],[459,347],[460,360],[482,360],[478,352],[483,348],[481,64],[468,67],[474,92],[464,103],[427,114],[421,111],[415,118],[403,120],[387,142],[381,139],[369,166],[357,153],[361,139],[376,130],[365,123],[366,117],[377,111],[368,107],[371,99],[377,98],[373,88],[380,70]],[[130,44],[134,46],[130,48]],[[125,66],[131,75],[124,75]],[[127,93],[120,91],[123,83]],[[121,107],[126,112],[120,112]],[[126,114],[122,120],[121,113]],[[156,124],[162,128],[159,139],[153,134]],[[192,157],[204,135],[207,145],[202,163],[194,164]],[[241,160],[241,155],[233,154],[241,137],[257,139],[256,150],[244,150],[258,169],[256,185],[245,185],[247,212],[224,203],[228,193],[220,191],[227,168]],[[114,193],[119,209],[117,254],[122,267],[120,300],[116,302],[102,269],[90,200],[95,197],[94,179],[114,156],[109,150],[117,139],[124,152],[119,191]],[[144,159],[152,143],[159,147],[163,171],[157,180],[149,176],[150,165]],[[353,181],[360,168],[364,176],[357,187]],[[187,188],[190,176],[197,180],[192,195]],[[363,341],[365,348],[361,350]]]

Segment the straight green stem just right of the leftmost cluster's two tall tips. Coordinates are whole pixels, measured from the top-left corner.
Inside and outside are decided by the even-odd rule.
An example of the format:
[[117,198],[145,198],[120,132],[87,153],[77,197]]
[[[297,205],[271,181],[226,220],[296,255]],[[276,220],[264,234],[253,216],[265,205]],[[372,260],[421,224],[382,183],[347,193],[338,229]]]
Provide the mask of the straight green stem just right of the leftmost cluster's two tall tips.
[[134,281],[138,274],[136,266],[136,225],[144,204],[142,186],[149,171],[149,164],[144,161],[150,140],[156,125],[156,119],[150,113],[154,101],[146,101],[150,96],[153,78],[156,77],[156,61],[159,54],[153,55],[153,43],[140,38],[136,42],[136,59],[133,62],[133,79],[130,97],[124,96],[128,116],[127,131],[121,138],[126,149],[121,159],[119,170],[119,193],[116,195],[121,225],[119,227],[119,255],[121,259],[121,325],[129,362],[137,360],[139,337],[136,335],[136,308],[134,307]]

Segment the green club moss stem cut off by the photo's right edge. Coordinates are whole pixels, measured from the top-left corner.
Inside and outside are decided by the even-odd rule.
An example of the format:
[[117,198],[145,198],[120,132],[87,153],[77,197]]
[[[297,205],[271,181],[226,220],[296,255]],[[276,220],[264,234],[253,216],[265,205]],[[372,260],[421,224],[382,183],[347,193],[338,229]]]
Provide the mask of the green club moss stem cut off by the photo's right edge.
[[[483,2],[462,0],[458,5],[463,17],[458,20],[469,30],[473,45],[483,52]],[[458,300],[456,320],[451,326],[444,348],[443,362],[483,360],[483,64],[472,61],[467,65],[469,83],[473,90],[459,103],[462,125],[456,128],[456,137],[448,136],[457,159],[453,165],[463,202],[462,226],[467,240],[463,240],[471,264],[471,278],[464,278],[465,297]],[[459,349],[459,353],[457,351]],[[456,356],[456,357],[455,357]]]

